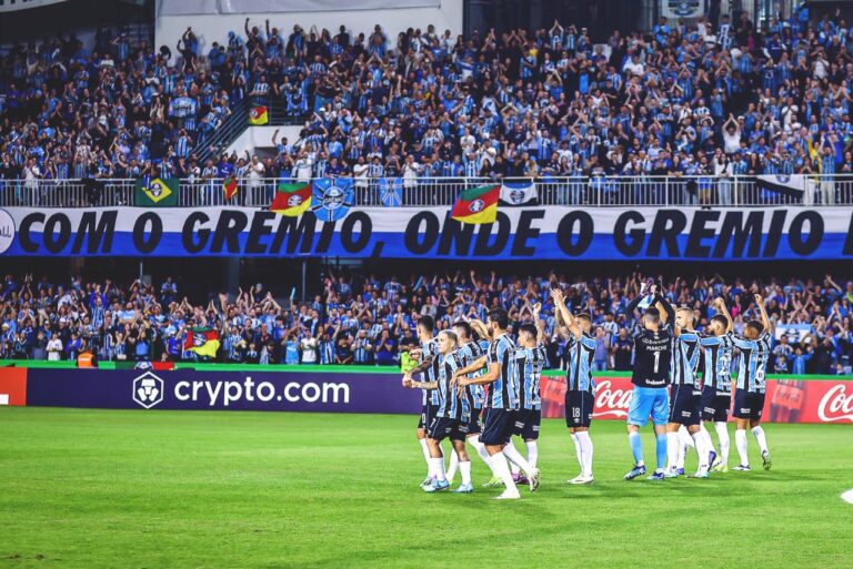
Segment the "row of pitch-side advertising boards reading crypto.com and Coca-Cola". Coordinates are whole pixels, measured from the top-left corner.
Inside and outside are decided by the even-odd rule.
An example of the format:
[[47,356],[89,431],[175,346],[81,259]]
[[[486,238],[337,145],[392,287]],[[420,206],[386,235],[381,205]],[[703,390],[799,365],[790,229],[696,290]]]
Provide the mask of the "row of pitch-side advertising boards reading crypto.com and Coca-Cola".
[[[159,369],[0,367],[0,405],[107,409],[272,410],[418,414],[420,390],[405,389],[394,369],[304,370],[230,366]],[[624,420],[630,374],[596,376],[596,419]],[[542,414],[563,417],[565,379],[542,378]],[[764,417],[773,423],[853,425],[853,382],[833,376],[775,376],[766,383]]]

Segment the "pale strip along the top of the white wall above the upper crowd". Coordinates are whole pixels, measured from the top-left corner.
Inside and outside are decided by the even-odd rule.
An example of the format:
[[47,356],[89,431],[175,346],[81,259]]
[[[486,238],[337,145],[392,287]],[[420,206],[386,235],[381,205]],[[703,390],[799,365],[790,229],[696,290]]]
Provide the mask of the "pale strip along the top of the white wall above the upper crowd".
[[325,12],[440,6],[441,0],[159,0],[157,16]]

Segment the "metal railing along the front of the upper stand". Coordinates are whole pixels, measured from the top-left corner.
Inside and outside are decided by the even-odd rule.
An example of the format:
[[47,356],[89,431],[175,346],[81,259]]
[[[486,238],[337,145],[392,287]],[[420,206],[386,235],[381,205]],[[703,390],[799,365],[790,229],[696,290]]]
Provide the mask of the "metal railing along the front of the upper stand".
[[[505,180],[509,182],[510,180]],[[520,182],[519,180],[513,180]],[[238,193],[225,200],[222,180],[181,180],[178,206],[268,207],[285,179],[240,179]],[[530,182],[529,180],[526,182]],[[720,179],[585,176],[534,181],[536,197],[530,205],[616,206],[812,206],[853,205],[853,175],[807,176],[804,192],[766,190],[755,176]],[[397,204],[403,207],[450,206],[466,189],[501,184],[488,179],[353,179],[354,205]],[[136,180],[0,180],[0,207],[136,206]],[[384,197],[384,199],[383,199]]]

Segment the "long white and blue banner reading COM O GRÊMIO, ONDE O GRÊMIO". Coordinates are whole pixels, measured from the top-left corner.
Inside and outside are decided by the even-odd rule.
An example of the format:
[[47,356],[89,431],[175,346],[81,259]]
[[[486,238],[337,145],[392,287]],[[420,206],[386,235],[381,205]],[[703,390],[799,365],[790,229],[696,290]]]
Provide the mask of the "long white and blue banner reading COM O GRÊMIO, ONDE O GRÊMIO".
[[462,225],[449,207],[351,207],[323,222],[250,207],[0,210],[13,256],[341,256],[490,260],[853,260],[849,207],[498,207]]

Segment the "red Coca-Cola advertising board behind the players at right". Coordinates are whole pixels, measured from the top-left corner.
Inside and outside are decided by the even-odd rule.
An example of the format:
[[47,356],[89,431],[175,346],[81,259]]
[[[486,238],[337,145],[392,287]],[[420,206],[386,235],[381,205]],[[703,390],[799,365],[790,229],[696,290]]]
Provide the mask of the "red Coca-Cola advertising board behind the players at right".
[[[633,386],[630,377],[596,377],[596,419],[625,420]],[[542,378],[542,415],[565,414],[565,378]],[[772,423],[853,424],[853,382],[769,379],[764,417]],[[733,420],[733,418],[732,418]]]

